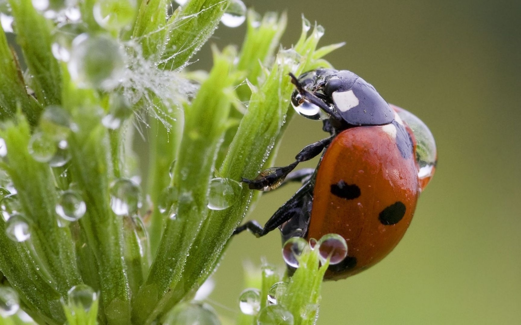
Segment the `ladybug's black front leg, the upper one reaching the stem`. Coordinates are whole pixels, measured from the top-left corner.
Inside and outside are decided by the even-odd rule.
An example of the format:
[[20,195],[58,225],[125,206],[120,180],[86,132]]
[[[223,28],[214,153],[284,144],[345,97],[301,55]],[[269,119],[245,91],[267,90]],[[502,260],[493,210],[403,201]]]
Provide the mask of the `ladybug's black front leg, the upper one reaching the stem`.
[[295,169],[296,165],[315,158],[331,143],[332,139],[333,137],[329,137],[305,147],[295,156],[295,162],[288,166],[268,168],[259,173],[255,179],[242,178],[242,182],[248,184],[248,187],[252,190],[274,190],[282,184],[282,181]]

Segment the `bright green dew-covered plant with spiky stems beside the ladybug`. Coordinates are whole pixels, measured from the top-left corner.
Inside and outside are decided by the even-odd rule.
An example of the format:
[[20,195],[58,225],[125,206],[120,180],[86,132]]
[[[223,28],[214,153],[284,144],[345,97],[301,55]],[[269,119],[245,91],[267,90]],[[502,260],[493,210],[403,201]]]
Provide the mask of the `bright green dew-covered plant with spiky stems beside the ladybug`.
[[[292,116],[288,73],[329,67],[321,57],[341,44],[317,49],[324,31],[307,36],[304,19],[279,48],[286,15],[250,11],[241,49],[214,47],[213,68],[195,74],[183,68],[224,14],[240,17],[237,1],[46,4],[8,1],[20,59],[0,32],[2,288],[42,324],[175,323],[169,311],[190,301],[259,197],[237,181],[271,164]],[[293,313],[318,304],[325,270],[311,250],[302,263],[283,298]]]

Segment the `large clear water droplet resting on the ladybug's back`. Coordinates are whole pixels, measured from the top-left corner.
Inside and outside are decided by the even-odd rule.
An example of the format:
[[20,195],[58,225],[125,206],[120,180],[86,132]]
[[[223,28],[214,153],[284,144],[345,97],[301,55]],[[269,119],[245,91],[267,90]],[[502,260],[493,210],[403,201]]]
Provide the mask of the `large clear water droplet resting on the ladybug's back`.
[[403,108],[390,105],[400,119],[413,131],[416,139],[416,162],[418,163],[419,189],[423,191],[434,176],[438,153],[436,152],[436,141],[429,128],[416,115]]

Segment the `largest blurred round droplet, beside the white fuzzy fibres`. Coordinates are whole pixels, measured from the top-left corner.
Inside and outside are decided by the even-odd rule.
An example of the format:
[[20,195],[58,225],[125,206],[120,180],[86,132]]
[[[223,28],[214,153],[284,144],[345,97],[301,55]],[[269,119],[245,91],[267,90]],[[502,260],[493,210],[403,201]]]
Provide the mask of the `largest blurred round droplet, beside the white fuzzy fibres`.
[[125,55],[113,38],[81,34],[72,42],[67,67],[78,87],[110,90],[119,84],[125,68]]

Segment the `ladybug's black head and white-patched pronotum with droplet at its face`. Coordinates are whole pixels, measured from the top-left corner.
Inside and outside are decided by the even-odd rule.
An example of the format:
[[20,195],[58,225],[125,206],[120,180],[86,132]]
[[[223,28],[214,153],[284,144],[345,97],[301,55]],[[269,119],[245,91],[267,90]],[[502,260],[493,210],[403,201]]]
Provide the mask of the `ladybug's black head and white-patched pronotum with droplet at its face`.
[[291,104],[313,120],[330,120],[336,128],[384,125],[394,119],[375,87],[348,70],[317,69],[293,79]]

